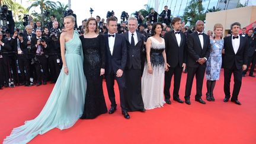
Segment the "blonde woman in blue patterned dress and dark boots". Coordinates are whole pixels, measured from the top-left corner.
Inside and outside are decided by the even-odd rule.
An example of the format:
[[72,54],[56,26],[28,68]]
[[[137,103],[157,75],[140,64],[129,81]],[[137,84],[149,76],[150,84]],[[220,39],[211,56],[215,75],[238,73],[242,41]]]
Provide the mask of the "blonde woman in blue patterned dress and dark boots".
[[219,80],[220,68],[222,65],[222,49],[224,45],[224,40],[222,39],[222,24],[215,24],[213,32],[215,36],[210,39],[210,56],[206,62],[207,101],[215,101],[215,98],[213,97],[213,89],[215,88],[216,80]]

